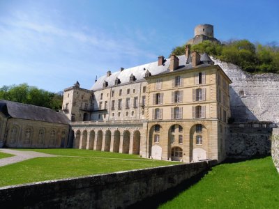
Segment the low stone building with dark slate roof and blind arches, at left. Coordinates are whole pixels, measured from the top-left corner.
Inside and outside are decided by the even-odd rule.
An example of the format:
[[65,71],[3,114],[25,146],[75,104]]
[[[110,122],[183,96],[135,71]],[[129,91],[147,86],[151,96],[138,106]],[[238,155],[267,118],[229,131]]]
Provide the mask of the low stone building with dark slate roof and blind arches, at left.
[[66,148],[72,146],[69,130],[63,113],[0,100],[0,147]]

